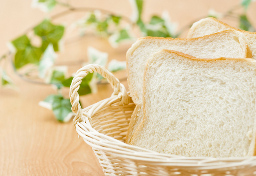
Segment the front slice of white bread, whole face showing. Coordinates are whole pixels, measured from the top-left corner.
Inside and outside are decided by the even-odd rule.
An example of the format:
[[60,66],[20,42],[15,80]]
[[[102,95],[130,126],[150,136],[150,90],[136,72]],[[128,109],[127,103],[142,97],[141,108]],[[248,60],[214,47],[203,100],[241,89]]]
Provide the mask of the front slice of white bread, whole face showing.
[[154,53],[131,144],[180,156],[255,155],[256,60]]

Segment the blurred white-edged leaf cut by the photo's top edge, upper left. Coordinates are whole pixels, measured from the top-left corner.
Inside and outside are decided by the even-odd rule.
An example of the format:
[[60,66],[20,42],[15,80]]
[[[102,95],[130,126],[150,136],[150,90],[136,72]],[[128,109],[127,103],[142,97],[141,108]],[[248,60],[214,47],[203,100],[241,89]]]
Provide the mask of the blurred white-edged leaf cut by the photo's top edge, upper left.
[[56,0],[32,0],[32,8],[38,8],[43,12],[50,12],[55,6]]

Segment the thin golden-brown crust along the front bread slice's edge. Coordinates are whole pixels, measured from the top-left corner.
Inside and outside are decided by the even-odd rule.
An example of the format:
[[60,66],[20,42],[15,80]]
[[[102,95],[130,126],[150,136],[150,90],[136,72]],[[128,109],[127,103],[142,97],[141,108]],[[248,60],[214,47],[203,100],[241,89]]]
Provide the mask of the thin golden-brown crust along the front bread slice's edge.
[[[142,122],[140,123],[140,125],[137,127],[137,129],[136,129],[134,135],[132,136],[131,142],[130,142],[131,145],[136,145],[136,143],[135,143],[136,138],[137,138],[138,134],[140,133],[140,131],[143,130],[143,128],[145,127],[145,121],[146,121],[146,119],[147,119],[147,117],[146,117],[146,109],[145,109],[145,99],[144,99],[144,97],[145,97],[145,87],[146,87],[146,85],[145,85],[145,78],[146,78],[147,71],[148,71],[148,63],[150,63],[150,62],[156,60],[156,59],[154,58],[154,55],[158,55],[158,54],[161,53],[161,52],[174,53],[174,54],[176,54],[176,55],[183,56],[183,57],[185,57],[185,58],[187,58],[187,59],[190,59],[190,60],[193,60],[193,61],[211,62],[211,61],[225,61],[225,60],[230,60],[230,61],[233,61],[233,60],[235,60],[235,61],[240,60],[240,61],[249,61],[249,62],[255,62],[255,63],[256,63],[255,59],[253,59],[253,58],[214,58],[214,59],[202,59],[202,58],[195,58],[195,57],[193,57],[193,56],[191,56],[191,55],[187,55],[187,54],[184,54],[184,53],[182,53],[182,52],[177,52],[177,51],[173,51],[173,50],[169,50],[169,49],[162,49],[162,50],[159,51],[159,52],[155,52],[153,55],[151,55],[150,58],[148,58],[148,61],[147,61],[146,66],[145,66],[145,71],[144,71],[144,75],[143,75],[143,121],[142,121]],[[256,140],[256,139],[254,139],[254,140]],[[254,155],[254,156],[256,155],[256,148],[254,148],[254,153],[253,153],[253,155]]]

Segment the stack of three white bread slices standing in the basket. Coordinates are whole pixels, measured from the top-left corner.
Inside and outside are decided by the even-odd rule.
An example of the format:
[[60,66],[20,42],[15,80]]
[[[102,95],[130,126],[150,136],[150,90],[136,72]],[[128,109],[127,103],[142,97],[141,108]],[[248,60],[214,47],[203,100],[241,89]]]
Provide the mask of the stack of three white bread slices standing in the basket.
[[136,108],[126,143],[180,156],[256,154],[256,33],[205,18],[187,38],[145,37],[126,55]]

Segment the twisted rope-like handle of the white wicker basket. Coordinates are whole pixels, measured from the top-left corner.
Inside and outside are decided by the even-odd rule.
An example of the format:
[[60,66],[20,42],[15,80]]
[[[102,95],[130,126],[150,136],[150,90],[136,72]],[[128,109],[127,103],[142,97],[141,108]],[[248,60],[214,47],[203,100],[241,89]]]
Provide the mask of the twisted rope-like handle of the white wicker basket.
[[121,98],[119,104],[129,103],[129,97],[124,85],[121,84],[119,80],[111,72],[109,72],[104,66],[100,66],[98,64],[86,65],[76,72],[76,75],[73,78],[70,86],[70,102],[72,104],[71,110],[73,111],[73,113],[76,114],[76,117],[73,119],[73,125],[81,121],[86,121],[86,123],[89,123],[91,126],[93,124],[90,115],[86,112],[82,112],[81,105],[79,104],[79,94],[77,92],[80,87],[79,85],[82,82],[81,80],[84,78],[84,76],[88,74],[88,72],[98,72],[100,75],[107,79],[107,81],[111,84],[112,88],[114,89],[114,92],[112,93],[111,97],[117,95],[118,98]]

